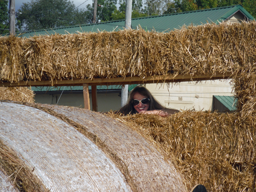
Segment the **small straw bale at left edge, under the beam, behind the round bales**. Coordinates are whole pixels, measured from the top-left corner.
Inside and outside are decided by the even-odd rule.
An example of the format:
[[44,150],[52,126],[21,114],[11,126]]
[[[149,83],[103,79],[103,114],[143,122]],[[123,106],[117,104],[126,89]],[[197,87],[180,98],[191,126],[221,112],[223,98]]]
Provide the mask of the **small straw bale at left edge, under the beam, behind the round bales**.
[[0,87],[0,100],[33,103],[34,95],[28,87]]

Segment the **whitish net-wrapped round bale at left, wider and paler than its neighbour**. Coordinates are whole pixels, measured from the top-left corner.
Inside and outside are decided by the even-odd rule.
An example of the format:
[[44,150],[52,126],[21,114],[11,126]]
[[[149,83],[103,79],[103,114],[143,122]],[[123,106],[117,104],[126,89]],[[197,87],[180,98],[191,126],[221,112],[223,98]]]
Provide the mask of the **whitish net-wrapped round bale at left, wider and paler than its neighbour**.
[[51,191],[131,191],[115,164],[72,126],[25,105],[0,102],[0,109],[0,140]]

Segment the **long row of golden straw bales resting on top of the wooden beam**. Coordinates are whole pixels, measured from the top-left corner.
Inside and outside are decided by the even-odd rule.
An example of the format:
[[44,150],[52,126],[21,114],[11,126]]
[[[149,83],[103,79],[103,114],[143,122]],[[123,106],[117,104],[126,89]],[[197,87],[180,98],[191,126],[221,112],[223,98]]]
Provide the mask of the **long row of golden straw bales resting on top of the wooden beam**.
[[256,22],[0,38],[0,80],[84,79],[230,72],[256,63]]

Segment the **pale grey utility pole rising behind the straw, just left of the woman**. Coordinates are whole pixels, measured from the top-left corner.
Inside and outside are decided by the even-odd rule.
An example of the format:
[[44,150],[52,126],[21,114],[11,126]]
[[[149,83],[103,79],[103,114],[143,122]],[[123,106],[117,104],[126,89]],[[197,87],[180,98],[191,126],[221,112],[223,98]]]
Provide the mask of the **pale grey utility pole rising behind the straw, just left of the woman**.
[[[132,0],[126,0],[125,2],[125,29],[131,29],[131,9],[132,9]],[[122,87],[121,90],[121,107],[123,107],[128,100],[128,87],[126,84]]]

